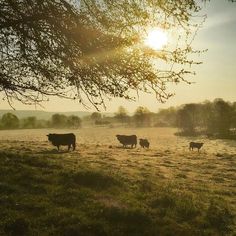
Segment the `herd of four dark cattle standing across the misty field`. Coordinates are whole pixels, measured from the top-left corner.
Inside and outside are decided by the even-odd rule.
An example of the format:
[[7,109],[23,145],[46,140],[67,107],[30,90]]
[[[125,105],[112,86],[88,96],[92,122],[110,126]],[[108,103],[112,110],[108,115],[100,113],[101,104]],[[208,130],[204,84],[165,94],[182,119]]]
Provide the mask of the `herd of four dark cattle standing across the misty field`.
[[[75,150],[76,146],[76,136],[73,133],[69,134],[48,134],[48,140],[52,143],[52,145],[56,146],[58,151],[60,146],[66,145],[68,146],[68,151],[70,150],[71,146],[73,147],[73,151]],[[136,135],[120,135],[117,134],[116,138],[118,141],[123,145],[124,148],[128,147],[130,145],[131,148],[137,146],[137,136]],[[142,148],[149,148],[150,143],[147,139],[139,139],[139,145]],[[198,149],[198,152],[200,148],[203,146],[203,143],[196,143],[196,142],[190,142],[189,143],[189,149],[193,150],[194,148]]]

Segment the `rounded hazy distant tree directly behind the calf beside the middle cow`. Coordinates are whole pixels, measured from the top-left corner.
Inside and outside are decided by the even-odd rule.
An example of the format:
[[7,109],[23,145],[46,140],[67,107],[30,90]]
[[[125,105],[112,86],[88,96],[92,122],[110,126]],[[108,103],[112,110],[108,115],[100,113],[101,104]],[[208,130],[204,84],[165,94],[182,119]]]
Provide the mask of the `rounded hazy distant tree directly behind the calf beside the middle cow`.
[[152,113],[146,107],[138,107],[133,115],[136,126],[150,126]]

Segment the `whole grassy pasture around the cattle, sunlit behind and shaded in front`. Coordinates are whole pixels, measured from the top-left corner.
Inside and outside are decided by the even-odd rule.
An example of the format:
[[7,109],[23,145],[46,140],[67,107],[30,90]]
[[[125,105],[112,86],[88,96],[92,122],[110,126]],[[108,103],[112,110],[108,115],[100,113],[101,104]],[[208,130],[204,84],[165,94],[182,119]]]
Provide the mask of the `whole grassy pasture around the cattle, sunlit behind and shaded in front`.
[[[236,141],[175,131],[83,128],[69,153],[46,134],[71,130],[0,131],[0,235],[235,235]],[[123,149],[116,134],[150,149]]]

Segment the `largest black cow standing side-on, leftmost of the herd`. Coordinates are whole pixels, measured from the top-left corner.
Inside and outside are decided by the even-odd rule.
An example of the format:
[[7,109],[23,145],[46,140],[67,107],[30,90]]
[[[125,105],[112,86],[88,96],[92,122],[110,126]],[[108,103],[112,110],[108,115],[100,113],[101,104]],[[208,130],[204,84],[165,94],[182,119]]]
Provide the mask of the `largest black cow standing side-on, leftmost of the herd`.
[[48,141],[52,145],[56,146],[58,151],[60,145],[68,145],[68,151],[70,150],[71,145],[73,146],[73,151],[75,150],[75,141],[76,137],[73,133],[69,134],[48,134]]

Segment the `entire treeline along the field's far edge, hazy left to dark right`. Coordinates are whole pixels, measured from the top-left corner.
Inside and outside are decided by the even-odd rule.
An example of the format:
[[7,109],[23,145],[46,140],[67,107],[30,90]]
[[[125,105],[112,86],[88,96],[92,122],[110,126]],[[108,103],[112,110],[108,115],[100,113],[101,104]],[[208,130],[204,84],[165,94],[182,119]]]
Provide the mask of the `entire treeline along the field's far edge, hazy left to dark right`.
[[120,106],[113,116],[93,112],[80,118],[75,115],[54,114],[49,120],[36,117],[18,119],[12,113],[6,113],[0,119],[1,129],[18,128],[80,128],[81,126],[116,126],[125,127],[178,127],[178,135],[205,134],[213,137],[236,136],[236,102],[223,99],[213,102],[184,104],[179,107],[161,109],[157,113],[146,107],[138,107],[133,114]]

